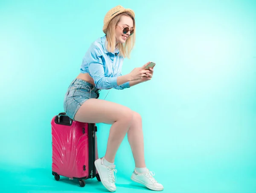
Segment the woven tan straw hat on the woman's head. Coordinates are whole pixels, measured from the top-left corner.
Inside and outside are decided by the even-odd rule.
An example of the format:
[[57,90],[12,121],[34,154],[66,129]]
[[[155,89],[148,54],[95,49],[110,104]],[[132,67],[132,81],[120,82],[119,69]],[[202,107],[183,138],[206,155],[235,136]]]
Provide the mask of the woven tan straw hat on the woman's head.
[[135,13],[131,9],[125,9],[122,6],[116,6],[109,10],[107,14],[104,17],[104,25],[103,25],[103,32],[107,34],[107,27],[109,22],[118,14],[123,13],[123,12],[129,12],[133,17],[135,17]]

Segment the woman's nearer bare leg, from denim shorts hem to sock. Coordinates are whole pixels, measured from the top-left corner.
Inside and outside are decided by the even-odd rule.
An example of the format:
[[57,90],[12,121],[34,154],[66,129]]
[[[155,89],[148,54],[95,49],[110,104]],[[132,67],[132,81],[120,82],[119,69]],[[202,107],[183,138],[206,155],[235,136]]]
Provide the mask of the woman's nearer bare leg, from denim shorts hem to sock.
[[91,98],[76,113],[75,120],[88,123],[112,124],[105,159],[114,162],[116,152],[131,125],[133,111],[110,101]]

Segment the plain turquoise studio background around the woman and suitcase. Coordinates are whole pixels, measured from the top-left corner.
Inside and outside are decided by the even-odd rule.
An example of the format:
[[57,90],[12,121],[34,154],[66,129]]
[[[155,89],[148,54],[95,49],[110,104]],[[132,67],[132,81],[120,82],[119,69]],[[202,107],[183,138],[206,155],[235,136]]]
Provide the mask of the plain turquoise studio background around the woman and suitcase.
[[[0,192],[104,192],[51,174],[51,125],[90,43],[117,0],[0,1]],[[151,81],[106,100],[143,117],[147,167],[168,193],[256,193],[256,2],[146,1],[123,74],[156,62]],[[103,99],[107,91],[102,90]],[[98,124],[99,156],[110,126]],[[117,192],[131,182],[127,138],[116,155]]]

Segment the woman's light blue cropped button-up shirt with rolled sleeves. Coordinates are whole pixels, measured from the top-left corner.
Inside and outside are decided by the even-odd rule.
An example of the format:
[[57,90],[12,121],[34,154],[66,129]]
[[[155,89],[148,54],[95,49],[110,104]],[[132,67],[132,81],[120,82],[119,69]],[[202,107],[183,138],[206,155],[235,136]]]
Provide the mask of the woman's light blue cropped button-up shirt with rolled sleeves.
[[117,77],[122,76],[124,58],[119,56],[119,49],[108,52],[105,46],[106,35],[95,40],[84,55],[81,73],[89,73],[98,89],[125,89],[129,82],[117,85]]

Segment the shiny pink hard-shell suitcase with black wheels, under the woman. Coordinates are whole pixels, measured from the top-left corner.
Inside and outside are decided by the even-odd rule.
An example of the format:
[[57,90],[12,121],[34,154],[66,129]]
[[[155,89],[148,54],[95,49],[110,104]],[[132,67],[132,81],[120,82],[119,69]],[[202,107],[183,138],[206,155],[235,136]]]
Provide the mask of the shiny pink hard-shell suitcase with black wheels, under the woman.
[[52,175],[77,179],[81,187],[84,179],[100,181],[94,161],[98,159],[97,127],[70,119],[64,112],[54,116],[52,125]]

